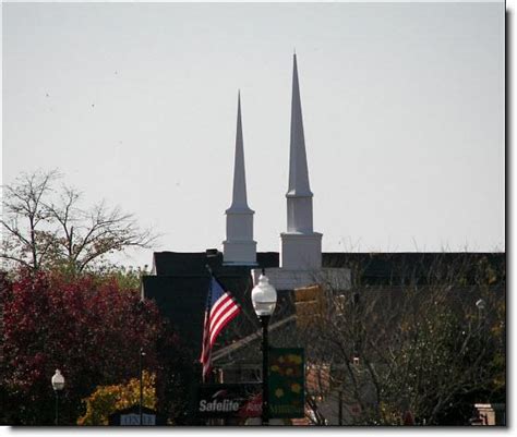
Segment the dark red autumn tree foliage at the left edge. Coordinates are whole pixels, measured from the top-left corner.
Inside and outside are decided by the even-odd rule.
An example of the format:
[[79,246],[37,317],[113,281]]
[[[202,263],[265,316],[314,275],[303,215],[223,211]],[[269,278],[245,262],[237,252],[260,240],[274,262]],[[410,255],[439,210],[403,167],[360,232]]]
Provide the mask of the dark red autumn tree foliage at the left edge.
[[74,423],[81,399],[96,386],[137,377],[140,348],[145,368],[159,371],[158,343],[173,344],[156,305],[113,279],[23,272],[3,293],[1,385],[10,396],[9,422],[52,422],[50,378],[59,368],[63,422]]

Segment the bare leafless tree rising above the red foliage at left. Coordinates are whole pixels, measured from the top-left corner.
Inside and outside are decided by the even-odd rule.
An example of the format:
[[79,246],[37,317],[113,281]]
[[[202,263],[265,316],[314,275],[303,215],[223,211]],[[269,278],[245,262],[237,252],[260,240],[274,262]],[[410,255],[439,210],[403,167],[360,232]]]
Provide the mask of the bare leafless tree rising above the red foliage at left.
[[81,206],[81,193],[57,187],[61,174],[36,171],[3,186],[1,258],[31,270],[64,267],[81,272],[111,253],[149,247],[156,235],[132,214],[100,202]]

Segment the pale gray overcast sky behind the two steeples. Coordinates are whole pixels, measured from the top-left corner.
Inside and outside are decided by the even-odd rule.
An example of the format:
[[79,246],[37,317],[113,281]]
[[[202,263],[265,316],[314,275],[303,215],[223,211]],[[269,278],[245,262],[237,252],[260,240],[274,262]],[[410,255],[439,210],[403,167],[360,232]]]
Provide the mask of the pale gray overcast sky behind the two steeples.
[[238,88],[279,250],[294,47],[324,251],[505,248],[503,3],[19,3],[2,34],[3,182],[59,168],[156,250],[221,248]]

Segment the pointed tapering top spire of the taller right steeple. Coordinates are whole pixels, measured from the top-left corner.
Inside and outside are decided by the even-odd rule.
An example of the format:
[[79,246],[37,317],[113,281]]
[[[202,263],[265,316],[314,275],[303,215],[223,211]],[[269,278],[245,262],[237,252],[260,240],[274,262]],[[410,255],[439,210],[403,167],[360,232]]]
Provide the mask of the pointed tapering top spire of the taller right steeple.
[[288,194],[312,196],[309,186],[309,170],[306,166],[305,136],[303,134],[303,118],[298,82],[297,54],[293,54],[292,98],[291,98],[291,143],[289,155],[289,189]]

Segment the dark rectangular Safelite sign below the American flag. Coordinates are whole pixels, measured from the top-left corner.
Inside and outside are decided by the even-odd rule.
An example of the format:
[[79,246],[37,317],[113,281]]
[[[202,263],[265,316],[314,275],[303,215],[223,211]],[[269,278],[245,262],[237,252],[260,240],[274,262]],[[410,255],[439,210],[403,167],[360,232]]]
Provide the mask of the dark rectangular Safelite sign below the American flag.
[[258,417],[262,384],[202,384],[196,414],[200,417]]

